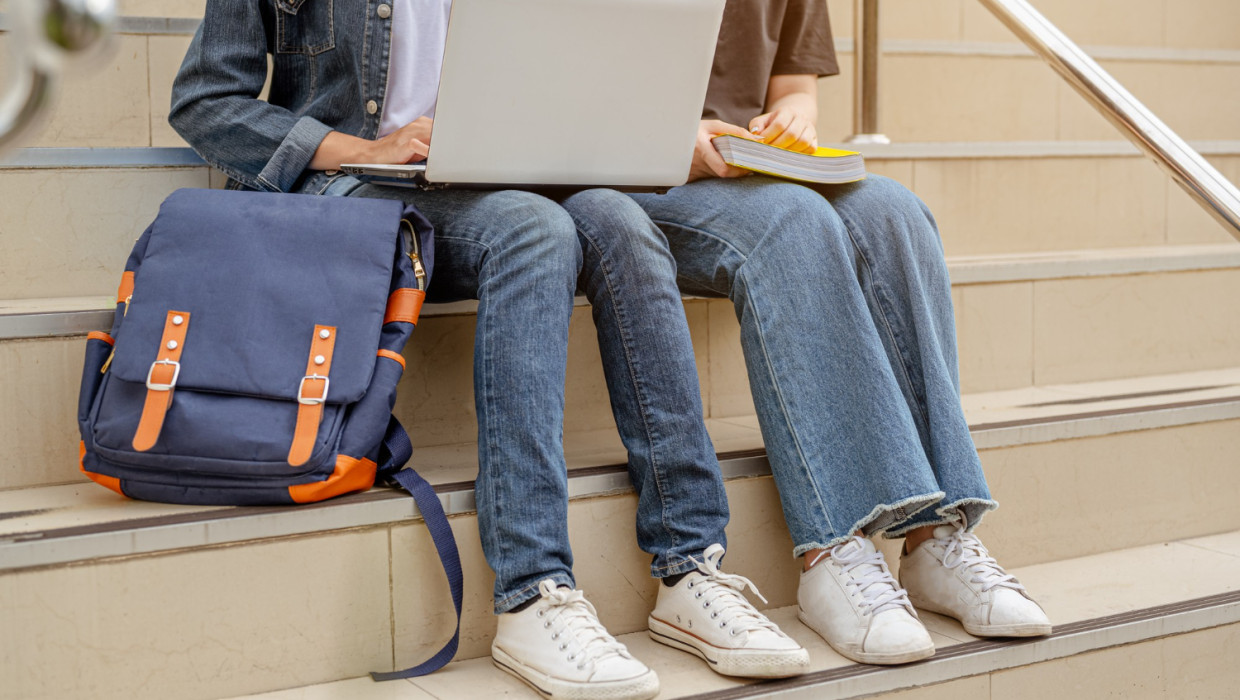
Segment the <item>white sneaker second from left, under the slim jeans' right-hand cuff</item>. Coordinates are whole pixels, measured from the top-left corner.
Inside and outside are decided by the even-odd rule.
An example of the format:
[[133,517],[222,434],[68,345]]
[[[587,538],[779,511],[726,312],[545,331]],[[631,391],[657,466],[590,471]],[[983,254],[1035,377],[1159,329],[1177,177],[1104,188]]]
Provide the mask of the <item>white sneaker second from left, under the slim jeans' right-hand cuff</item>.
[[[719,571],[723,546],[707,548],[698,570],[675,586],[658,586],[650,613],[650,636],[656,642],[697,654],[723,675],[786,678],[810,667],[810,653],[784,634],[745,600],[754,590],[744,576]],[[763,598],[766,602],[766,598]]]

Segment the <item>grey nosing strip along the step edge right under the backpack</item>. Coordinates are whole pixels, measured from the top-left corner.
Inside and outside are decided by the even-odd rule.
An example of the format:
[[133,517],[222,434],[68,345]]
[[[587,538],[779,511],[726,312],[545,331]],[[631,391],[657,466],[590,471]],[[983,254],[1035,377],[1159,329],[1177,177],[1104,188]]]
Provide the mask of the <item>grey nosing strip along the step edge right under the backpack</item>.
[[[1231,419],[1240,419],[1240,393],[1198,401],[978,424],[972,430],[973,440],[981,447],[996,446],[1001,440],[1023,445]],[[1130,422],[1125,425],[1123,421]],[[770,475],[766,452],[760,448],[723,452],[719,455],[719,463],[724,478],[728,479]],[[624,465],[578,468],[569,472],[570,498],[616,494],[631,489]],[[449,515],[465,515],[475,510],[471,481],[441,483],[435,486],[435,492],[444,505],[444,512]],[[15,517],[17,514],[0,513],[0,522]],[[0,534],[0,571],[319,534],[417,519],[420,519],[417,505],[403,493],[374,489],[296,508],[216,508],[206,512]]]

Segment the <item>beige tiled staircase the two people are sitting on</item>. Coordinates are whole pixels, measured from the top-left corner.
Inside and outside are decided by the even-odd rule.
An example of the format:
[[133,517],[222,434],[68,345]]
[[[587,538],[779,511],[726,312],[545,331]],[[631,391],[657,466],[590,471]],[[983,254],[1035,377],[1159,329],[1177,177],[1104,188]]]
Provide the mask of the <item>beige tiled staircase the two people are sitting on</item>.
[[[844,74],[823,82],[820,133],[842,139],[852,4],[830,5]],[[1240,181],[1233,1],[1035,5]],[[880,669],[796,622],[796,562],[720,300],[686,310],[728,477],[728,567],[810,648],[812,673],[737,683],[645,637],[656,588],[634,544],[585,307],[564,425],[579,584],[660,673],[662,698],[1229,696],[1240,683],[1240,244],[975,1],[883,7],[895,145],[867,160],[914,188],[942,229],[966,414],[1003,504],[981,534],[1055,633],[980,641],[928,615],[936,657]],[[360,678],[420,660],[451,629],[412,499],[376,489],[296,509],[188,508],[123,501],[78,475],[86,331],[107,327],[159,202],[222,185],[166,125],[202,2],[122,9],[110,62],[67,81],[37,147],[0,164],[0,699],[531,696],[486,658],[495,621],[472,510],[467,304],[428,306],[397,406],[465,566],[461,648],[444,672]],[[893,543],[880,546],[894,562]]]

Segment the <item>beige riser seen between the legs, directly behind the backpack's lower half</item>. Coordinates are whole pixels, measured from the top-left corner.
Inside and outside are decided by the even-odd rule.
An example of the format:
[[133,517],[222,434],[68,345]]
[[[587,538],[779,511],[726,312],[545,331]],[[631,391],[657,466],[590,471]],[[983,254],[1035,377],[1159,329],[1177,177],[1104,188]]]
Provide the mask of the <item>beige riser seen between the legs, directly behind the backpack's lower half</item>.
[[[1223,368],[1240,357],[1240,317],[1213,300],[1240,297],[1240,270],[966,285],[954,291],[966,393],[1030,384]],[[725,300],[691,300],[703,405],[709,418],[753,415],[739,326]],[[476,440],[475,317],[422,321],[397,415],[424,446]],[[0,440],[29,456],[0,488],[63,483],[77,475],[76,405],[83,339],[0,342]],[[589,308],[570,327],[564,427],[613,429]]]

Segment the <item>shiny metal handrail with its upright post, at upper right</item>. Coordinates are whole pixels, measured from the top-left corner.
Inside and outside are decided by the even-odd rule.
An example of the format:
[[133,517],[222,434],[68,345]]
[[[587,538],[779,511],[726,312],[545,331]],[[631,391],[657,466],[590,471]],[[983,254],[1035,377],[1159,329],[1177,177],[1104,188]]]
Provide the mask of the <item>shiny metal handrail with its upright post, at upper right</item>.
[[[1219,223],[1240,239],[1240,190],[1200,154],[1102,69],[1025,0],[980,0],[1035,55],[1050,64],[1102,116]],[[874,142],[878,128],[878,0],[857,0],[856,135],[851,142]],[[861,84],[864,83],[864,84]],[[883,142],[883,141],[878,141]]]

